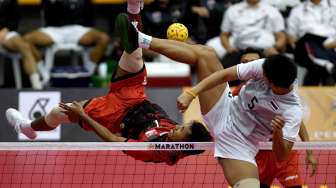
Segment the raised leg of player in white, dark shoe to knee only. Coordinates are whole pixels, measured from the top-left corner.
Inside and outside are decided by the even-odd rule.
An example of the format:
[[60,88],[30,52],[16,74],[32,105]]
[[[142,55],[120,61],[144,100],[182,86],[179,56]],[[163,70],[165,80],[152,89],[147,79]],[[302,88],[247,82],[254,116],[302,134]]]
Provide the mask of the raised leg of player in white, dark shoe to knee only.
[[212,72],[222,69],[221,63],[212,48],[148,36],[138,31],[131,24],[126,14],[117,16],[115,30],[120,36],[127,53],[132,53],[138,47],[147,48],[186,64],[200,66],[201,63],[206,62],[206,66]]

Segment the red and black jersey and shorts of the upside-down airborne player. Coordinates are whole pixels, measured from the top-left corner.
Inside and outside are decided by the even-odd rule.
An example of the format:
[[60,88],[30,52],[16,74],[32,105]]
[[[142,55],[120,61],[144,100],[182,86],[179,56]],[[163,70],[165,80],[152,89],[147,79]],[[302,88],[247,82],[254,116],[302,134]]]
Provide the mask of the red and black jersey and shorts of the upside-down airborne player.
[[[112,80],[110,91],[95,97],[85,105],[85,113],[113,133],[121,133],[128,142],[167,141],[167,134],[176,127],[168,115],[156,104],[146,100],[145,67],[138,73]],[[123,127],[124,125],[124,127]],[[86,123],[85,130],[92,130]],[[159,139],[155,139],[159,138]],[[137,160],[175,164],[186,156],[181,151],[124,151]]]

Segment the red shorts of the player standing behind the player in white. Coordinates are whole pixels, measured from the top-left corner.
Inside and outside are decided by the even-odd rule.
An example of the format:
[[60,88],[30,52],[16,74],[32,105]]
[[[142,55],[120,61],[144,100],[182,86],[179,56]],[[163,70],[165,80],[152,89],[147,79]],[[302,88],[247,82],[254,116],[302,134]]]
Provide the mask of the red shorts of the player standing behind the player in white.
[[260,182],[271,185],[275,178],[285,187],[300,186],[299,153],[291,151],[288,160],[277,163],[272,151],[260,150],[256,156]]

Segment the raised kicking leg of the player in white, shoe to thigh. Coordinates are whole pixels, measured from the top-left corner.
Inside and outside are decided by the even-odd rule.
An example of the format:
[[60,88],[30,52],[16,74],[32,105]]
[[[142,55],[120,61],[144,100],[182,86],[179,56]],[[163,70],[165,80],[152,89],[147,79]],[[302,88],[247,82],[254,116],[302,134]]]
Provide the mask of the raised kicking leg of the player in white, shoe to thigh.
[[[116,19],[116,30],[121,37],[122,45],[128,53],[132,53],[138,47],[149,48],[155,52],[165,55],[175,61],[194,65],[198,80],[202,80],[212,73],[222,70],[215,51],[204,45],[191,45],[184,42],[158,39],[145,35],[130,23],[125,14],[119,14]],[[133,40],[133,41],[131,41]],[[226,83],[215,87],[200,95],[201,111],[207,113],[221,97]]]

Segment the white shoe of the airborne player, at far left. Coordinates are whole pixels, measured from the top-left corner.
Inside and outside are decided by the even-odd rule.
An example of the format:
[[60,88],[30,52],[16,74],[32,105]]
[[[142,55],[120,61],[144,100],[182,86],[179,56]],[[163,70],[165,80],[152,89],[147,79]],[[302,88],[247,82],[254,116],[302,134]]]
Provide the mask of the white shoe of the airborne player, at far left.
[[6,117],[17,133],[21,132],[32,140],[36,138],[36,132],[30,126],[25,126],[29,124],[29,120],[25,119],[19,111],[9,108],[6,110]]

